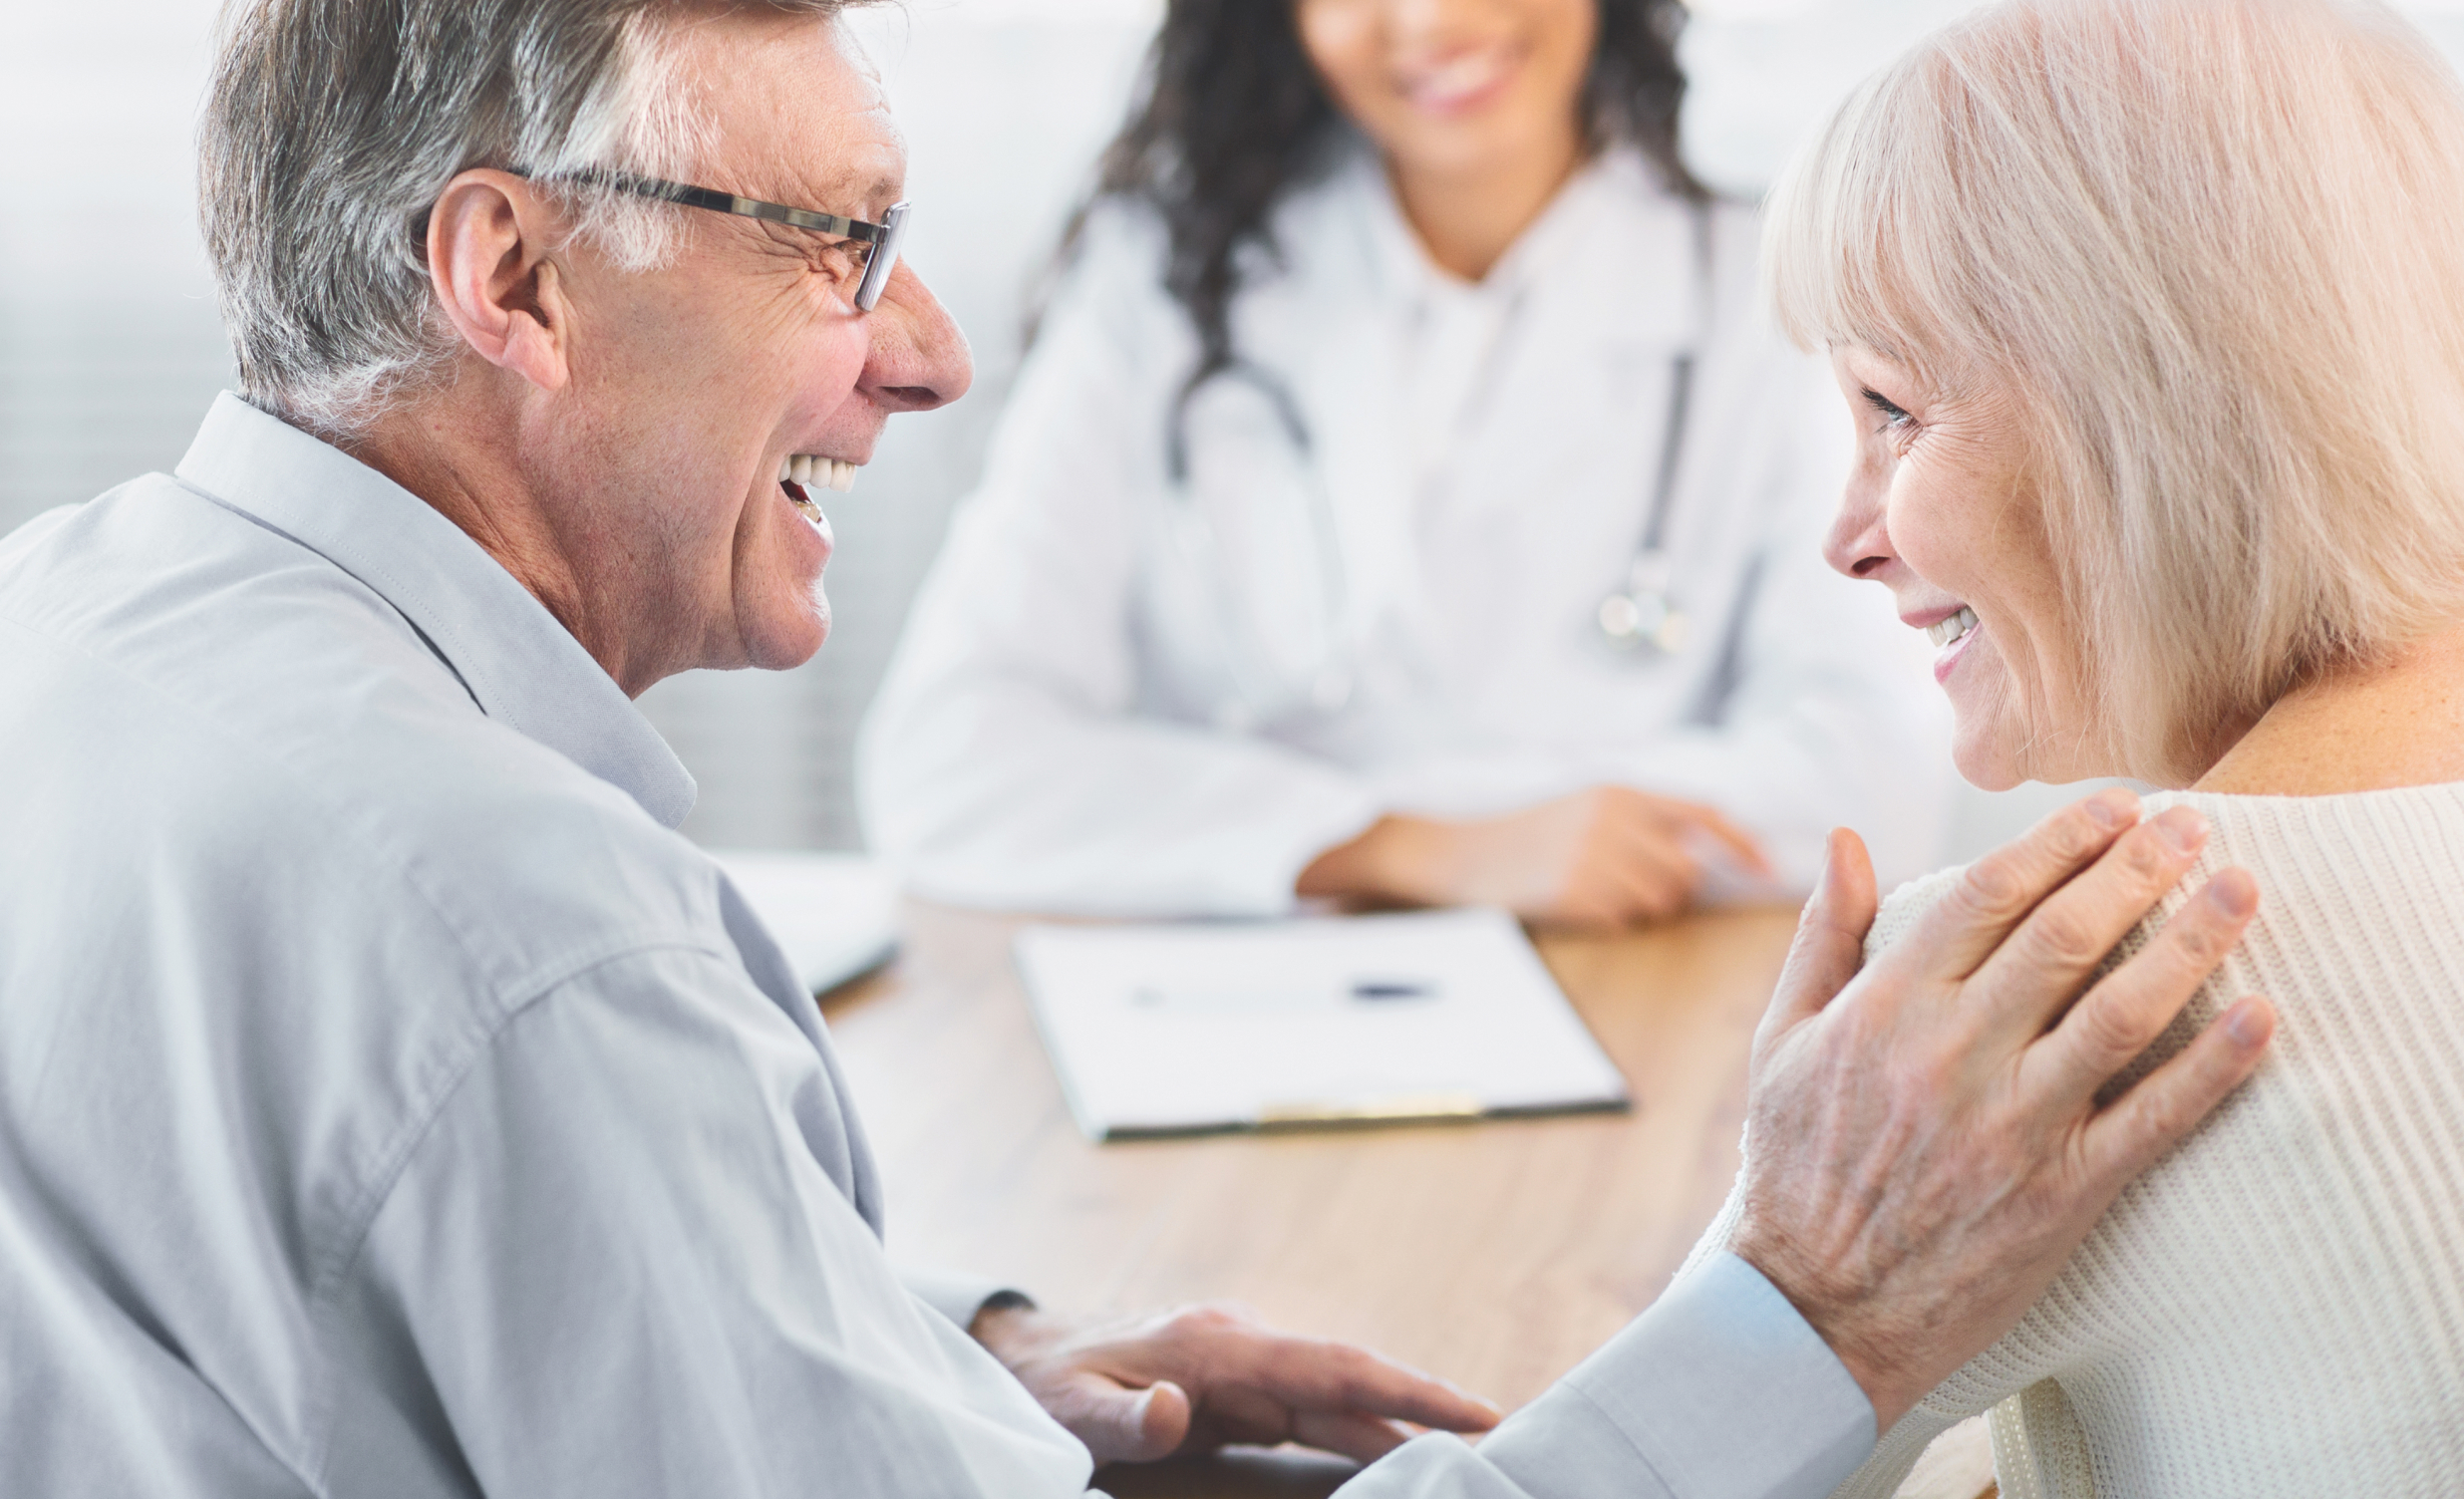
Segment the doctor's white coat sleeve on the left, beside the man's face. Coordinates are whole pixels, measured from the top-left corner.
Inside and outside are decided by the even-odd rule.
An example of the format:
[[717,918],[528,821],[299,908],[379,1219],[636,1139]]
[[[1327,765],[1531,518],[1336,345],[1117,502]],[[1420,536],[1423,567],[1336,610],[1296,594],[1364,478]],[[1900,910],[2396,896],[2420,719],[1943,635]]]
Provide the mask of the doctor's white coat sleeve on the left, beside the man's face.
[[1323,759],[1138,713],[1138,515],[1185,333],[1133,229],[1096,219],[1045,321],[865,720],[857,804],[934,900],[1281,915],[1380,806]]

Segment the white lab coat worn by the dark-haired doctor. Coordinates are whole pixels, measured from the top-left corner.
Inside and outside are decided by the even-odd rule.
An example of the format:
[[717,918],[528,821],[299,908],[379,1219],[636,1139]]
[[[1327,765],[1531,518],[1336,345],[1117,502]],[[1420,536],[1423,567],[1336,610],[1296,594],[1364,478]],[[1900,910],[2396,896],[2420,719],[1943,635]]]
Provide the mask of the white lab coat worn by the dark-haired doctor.
[[[875,851],[968,905],[1271,915],[1380,814],[1631,784],[1720,806],[1791,888],[1838,823],[1885,890],[1929,868],[1954,772],[1924,639],[1818,555],[1848,417],[1762,316],[1752,210],[1710,210],[1708,259],[1698,222],[1611,150],[1469,286],[1355,153],[1279,210],[1232,318],[1301,431],[1217,380],[1175,481],[1198,340],[1161,224],[1099,212],[865,725]],[[1619,651],[1599,607],[1685,353],[1688,639]]]

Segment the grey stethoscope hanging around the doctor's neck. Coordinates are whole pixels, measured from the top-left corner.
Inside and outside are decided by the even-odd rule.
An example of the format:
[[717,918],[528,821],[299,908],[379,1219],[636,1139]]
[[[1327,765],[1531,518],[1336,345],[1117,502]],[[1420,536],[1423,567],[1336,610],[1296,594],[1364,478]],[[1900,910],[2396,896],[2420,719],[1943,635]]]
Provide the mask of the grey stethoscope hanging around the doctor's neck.
[[[1651,486],[1651,510],[1643,520],[1643,535],[1634,557],[1626,562],[1621,584],[1614,587],[1594,611],[1602,641],[1611,651],[1636,658],[1676,656],[1693,639],[1693,616],[1685,611],[1676,587],[1676,555],[1668,547],[1668,523],[1676,513],[1678,466],[1685,451],[1685,431],[1693,414],[1695,350],[1710,335],[1712,222],[1708,205],[1695,202],[1688,207],[1693,210],[1695,335],[1688,348],[1678,350],[1668,360],[1668,412],[1661,424],[1661,461]],[[1193,535],[1200,550],[1217,552],[1210,523],[1190,496],[1188,409],[1198,390],[1210,382],[1234,382],[1254,390],[1266,402],[1276,429],[1281,429],[1284,441],[1299,456],[1299,468],[1306,473],[1308,530],[1311,545],[1316,547],[1321,587],[1326,589],[1321,607],[1326,609],[1331,626],[1318,661],[1303,673],[1308,680],[1299,698],[1316,713],[1333,715],[1350,703],[1355,690],[1355,673],[1343,663],[1343,651],[1335,639],[1350,597],[1350,577],[1340,533],[1335,528],[1335,503],[1316,461],[1316,439],[1308,422],[1301,417],[1301,402],[1291,394],[1284,377],[1252,360],[1232,360],[1205,380],[1193,380],[1183,387],[1165,424],[1163,464],[1173,493],[1183,500],[1180,515],[1185,535]],[[1232,579],[1225,577],[1220,555],[1215,557],[1212,572],[1225,614],[1230,616],[1239,611],[1239,604],[1234,602],[1237,589],[1232,587]],[[1239,653],[1234,651],[1234,656]],[[1276,693],[1264,683],[1249,683],[1244,695],[1266,703],[1274,698],[1291,698],[1289,690]],[[1301,703],[1286,703],[1284,708],[1299,708]]]

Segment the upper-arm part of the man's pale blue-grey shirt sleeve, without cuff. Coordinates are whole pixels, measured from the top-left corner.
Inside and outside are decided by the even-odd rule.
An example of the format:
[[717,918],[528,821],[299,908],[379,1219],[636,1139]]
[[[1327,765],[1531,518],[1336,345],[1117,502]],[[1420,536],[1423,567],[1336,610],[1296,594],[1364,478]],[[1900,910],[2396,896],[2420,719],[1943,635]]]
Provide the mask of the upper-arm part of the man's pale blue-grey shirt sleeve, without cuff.
[[821,1055],[707,952],[515,1013],[335,1292],[335,1492],[1018,1494],[1087,1450],[917,1299]]

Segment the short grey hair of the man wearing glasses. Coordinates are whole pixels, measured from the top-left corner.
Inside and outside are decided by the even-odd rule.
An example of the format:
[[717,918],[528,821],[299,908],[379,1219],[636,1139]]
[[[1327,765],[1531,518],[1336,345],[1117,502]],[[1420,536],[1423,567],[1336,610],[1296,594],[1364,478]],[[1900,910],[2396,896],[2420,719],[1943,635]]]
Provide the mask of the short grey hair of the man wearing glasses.
[[[197,202],[241,392],[325,434],[362,427],[453,350],[429,210],[456,173],[690,178],[707,118],[668,39],[722,10],[845,0],[229,0]],[[574,234],[650,269],[683,210],[562,187]]]

